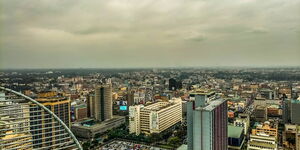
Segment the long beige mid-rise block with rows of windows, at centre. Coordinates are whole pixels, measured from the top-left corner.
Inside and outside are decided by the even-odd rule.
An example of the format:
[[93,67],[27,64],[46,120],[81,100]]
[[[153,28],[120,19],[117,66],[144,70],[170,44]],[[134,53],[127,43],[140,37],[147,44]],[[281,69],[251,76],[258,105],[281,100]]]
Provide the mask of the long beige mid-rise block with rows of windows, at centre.
[[181,99],[129,107],[129,131],[137,135],[160,133],[181,121]]

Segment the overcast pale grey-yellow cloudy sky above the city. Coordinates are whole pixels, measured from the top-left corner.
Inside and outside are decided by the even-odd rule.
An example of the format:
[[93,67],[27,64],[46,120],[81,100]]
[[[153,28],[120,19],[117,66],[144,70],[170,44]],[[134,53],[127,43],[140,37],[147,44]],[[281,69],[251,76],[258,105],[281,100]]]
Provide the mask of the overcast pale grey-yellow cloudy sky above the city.
[[0,11],[0,68],[300,65],[300,0],[0,0]]

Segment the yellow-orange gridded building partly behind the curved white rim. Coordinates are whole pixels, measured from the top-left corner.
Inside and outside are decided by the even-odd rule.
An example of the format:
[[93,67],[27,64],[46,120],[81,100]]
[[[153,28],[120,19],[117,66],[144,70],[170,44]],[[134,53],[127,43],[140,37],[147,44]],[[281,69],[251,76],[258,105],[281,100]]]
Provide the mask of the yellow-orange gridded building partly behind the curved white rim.
[[[65,97],[44,97],[36,99],[39,103],[51,110],[57,117],[63,121],[66,126],[71,126],[70,116],[70,100]],[[34,148],[51,146],[58,144],[58,142],[65,142],[63,136],[60,135],[61,127],[58,123],[52,123],[54,118],[50,115],[46,115],[36,104],[32,104],[30,107],[30,130],[33,130],[32,137],[34,139]],[[42,130],[41,130],[42,129]],[[44,137],[44,138],[41,138]],[[46,138],[53,137],[53,138]]]

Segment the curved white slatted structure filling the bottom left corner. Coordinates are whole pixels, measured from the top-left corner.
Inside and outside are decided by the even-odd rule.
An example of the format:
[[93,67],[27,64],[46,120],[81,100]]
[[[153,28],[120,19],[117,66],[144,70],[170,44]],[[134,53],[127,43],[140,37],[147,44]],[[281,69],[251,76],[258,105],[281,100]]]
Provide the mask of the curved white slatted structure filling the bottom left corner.
[[0,149],[82,150],[65,122],[43,104],[4,87],[0,93]]

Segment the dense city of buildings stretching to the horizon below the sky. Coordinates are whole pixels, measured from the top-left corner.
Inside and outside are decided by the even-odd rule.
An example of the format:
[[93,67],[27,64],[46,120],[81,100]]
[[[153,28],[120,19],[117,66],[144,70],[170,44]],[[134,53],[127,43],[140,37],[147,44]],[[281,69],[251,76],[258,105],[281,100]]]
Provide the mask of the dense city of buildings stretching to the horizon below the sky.
[[[0,77],[1,87],[53,111],[82,149],[300,148],[299,67],[7,70]],[[1,149],[66,142],[36,136],[61,128],[36,122],[47,120],[45,110],[1,90]]]

